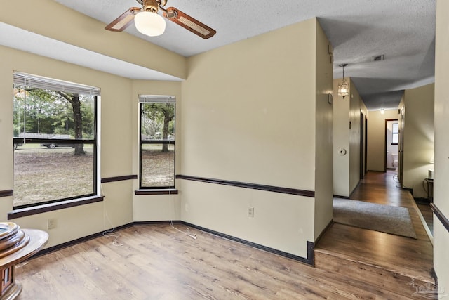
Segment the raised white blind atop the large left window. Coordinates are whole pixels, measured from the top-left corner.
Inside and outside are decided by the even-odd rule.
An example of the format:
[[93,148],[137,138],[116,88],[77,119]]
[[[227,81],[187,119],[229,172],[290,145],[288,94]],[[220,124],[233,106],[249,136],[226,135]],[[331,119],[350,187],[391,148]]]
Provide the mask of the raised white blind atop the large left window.
[[51,79],[21,72],[14,72],[14,84],[32,86],[38,89],[63,91],[66,93],[79,93],[82,95],[100,96],[100,89],[94,86],[75,84],[73,82]]

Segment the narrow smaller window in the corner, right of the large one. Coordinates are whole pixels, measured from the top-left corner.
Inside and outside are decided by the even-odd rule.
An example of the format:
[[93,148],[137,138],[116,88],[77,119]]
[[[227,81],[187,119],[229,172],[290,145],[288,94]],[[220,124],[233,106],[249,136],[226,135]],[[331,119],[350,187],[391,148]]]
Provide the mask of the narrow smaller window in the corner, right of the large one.
[[140,188],[175,188],[174,96],[139,96]]

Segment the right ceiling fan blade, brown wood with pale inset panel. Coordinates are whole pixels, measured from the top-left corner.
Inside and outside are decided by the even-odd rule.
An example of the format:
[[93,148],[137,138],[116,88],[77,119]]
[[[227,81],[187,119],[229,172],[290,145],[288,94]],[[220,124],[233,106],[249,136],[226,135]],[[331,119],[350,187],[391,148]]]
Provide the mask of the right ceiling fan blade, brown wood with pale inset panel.
[[208,25],[201,23],[199,20],[192,18],[190,15],[187,15],[174,7],[169,7],[166,10],[163,10],[163,16],[203,39],[213,37],[213,35],[217,33],[215,30],[208,27]]

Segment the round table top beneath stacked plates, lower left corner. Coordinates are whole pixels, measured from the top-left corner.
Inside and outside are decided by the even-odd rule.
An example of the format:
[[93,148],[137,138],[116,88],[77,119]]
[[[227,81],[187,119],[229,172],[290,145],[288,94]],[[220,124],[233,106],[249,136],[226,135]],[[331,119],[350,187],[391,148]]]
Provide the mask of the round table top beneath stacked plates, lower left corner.
[[15,265],[20,261],[23,261],[29,256],[36,254],[47,242],[48,233],[39,229],[22,229],[23,232],[29,236],[28,244],[19,249],[16,252],[12,252],[8,256],[0,258],[0,268],[8,268],[9,266]]

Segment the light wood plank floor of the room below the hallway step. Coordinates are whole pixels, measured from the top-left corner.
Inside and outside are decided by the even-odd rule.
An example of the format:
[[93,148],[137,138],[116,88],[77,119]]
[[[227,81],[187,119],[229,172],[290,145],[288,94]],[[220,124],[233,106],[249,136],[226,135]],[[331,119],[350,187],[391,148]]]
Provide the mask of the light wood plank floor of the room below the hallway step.
[[[182,230],[185,226],[175,225]],[[17,268],[19,299],[387,299],[337,273],[238,242],[168,225],[121,230]],[[379,298],[380,296],[380,298]],[[396,299],[400,299],[396,297]]]

